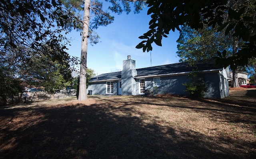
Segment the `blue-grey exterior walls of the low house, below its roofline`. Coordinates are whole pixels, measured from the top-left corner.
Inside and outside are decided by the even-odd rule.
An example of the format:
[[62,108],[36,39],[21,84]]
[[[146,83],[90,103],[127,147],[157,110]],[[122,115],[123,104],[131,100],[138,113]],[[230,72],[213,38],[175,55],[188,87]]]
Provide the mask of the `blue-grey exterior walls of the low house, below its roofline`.
[[[203,75],[209,84],[209,91],[205,96],[206,98],[224,98],[225,96],[229,95],[228,77],[226,76],[225,70],[222,70],[220,72],[204,73]],[[184,92],[186,87],[182,84],[185,82],[189,82],[187,77],[188,75],[160,77],[160,86],[157,88],[157,92],[154,92],[154,94],[171,93],[178,95],[188,95],[189,92]],[[141,79],[145,79],[145,90],[154,90],[154,78],[150,77]],[[134,79],[135,84],[128,83],[127,85],[129,87],[127,87],[127,85],[124,85],[123,81],[124,80],[122,79],[122,95],[140,95],[140,79]],[[129,80],[127,80],[126,82],[128,81]],[[92,90],[92,95],[108,95],[106,94],[106,81],[92,82],[87,88],[87,93],[88,90]],[[129,93],[126,92],[127,90]],[[113,95],[118,95],[118,80],[113,81]]]

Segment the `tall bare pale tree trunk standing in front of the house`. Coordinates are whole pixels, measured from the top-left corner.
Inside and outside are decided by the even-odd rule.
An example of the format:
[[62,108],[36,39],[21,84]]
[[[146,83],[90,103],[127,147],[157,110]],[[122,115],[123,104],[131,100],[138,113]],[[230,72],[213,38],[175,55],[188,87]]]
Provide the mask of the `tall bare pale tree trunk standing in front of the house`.
[[89,36],[89,19],[90,19],[90,0],[84,0],[84,18],[82,30],[82,46],[80,59],[80,81],[78,100],[86,100],[86,65],[87,65],[87,46]]

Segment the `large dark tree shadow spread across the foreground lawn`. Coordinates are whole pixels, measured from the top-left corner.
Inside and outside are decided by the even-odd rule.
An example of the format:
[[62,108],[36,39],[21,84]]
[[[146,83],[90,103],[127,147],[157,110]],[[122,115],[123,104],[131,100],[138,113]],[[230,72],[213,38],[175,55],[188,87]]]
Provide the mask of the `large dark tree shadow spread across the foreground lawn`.
[[[171,126],[145,122],[131,104],[114,100],[86,106],[1,109],[0,158],[170,159],[254,158],[223,144],[237,141],[212,138]],[[143,104],[135,102],[137,104]],[[3,119],[3,118],[1,118]],[[18,125],[18,126],[17,126]],[[221,143],[220,143],[221,142]],[[250,144],[250,143],[245,143]]]

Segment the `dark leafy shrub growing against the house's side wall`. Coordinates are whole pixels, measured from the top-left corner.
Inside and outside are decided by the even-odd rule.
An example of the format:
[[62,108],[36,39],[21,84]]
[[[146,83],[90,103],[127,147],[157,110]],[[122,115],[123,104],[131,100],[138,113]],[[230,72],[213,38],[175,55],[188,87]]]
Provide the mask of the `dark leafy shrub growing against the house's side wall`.
[[205,81],[200,71],[193,70],[189,75],[190,82],[183,83],[186,86],[185,92],[189,92],[192,97],[203,97],[209,91],[209,84]]

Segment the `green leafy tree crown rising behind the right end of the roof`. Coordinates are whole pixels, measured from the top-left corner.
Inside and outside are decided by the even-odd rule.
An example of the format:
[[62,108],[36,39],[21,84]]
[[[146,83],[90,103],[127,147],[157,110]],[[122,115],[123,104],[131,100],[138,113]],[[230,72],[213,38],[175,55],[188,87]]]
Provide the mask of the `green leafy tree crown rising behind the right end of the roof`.
[[204,27],[203,29],[191,29],[184,25],[181,28],[177,40],[176,52],[180,62],[210,59],[216,57],[218,50],[227,50],[227,57],[232,56],[232,37],[226,36],[223,31],[216,28]]

